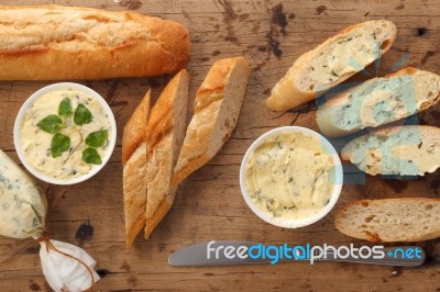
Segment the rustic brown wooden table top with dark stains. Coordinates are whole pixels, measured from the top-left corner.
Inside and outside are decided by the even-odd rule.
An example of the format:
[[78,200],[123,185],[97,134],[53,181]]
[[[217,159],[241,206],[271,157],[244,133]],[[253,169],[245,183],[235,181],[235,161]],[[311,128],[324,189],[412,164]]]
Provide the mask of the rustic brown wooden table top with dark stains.
[[[120,3],[116,3],[120,2]],[[426,265],[414,269],[366,265],[288,262],[279,265],[175,268],[167,265],[179,247],[211,239],[245,239],[267,244],[348,244],[336,231],[331,213],[312,226],[283,229],[265,224],[245,205],[239,187],[244,151],[264,132],[280,125],[317,130],[316,106],[285,114],[263,103],[271,88],[304,52],[342,27],[366,20],[387,19],[398,27],[397,40],[382,61],[387,71],[405,54],[409,64],[440,72],[440,2],[415,1],[289,1],[276,0],[2,0],[1,4],[86,5],[111,11],[132,9],[185,24],[191,38],[191,98],[210,65],[244,55],[252,65],[239,124],[221,151],[179,189],[175,205],[153,233],[125,248],[122,211],[122,127],[148,88],[157,97],[168,77],[84,81],[110,103],[118,121],[118,144],[107,167],[94,179],[70,187],[48,218],[53,238],[81,245],[97,261],[102,279],[94,291],[146,290],[295,290],[295,291],[440,291],[440,242],[420,243]],[[374,67],[369,70],[374,74]],[[365,79],[360,76],[359,79]],[[47,82],[0,82],[0,148],[19,161],[12,127],[24,100]],[[422,123],[440,126],[440,109],[420,114]],[[344,186],[339,204],[356,199],[439,196],[440,172],[418,180],[366,178],[364,186]],[[63,190],[52,186],[50,201]],[[1,223],[0,223],[1,224]],[[89,224],[94,234],[78,228]],[[90,229],[90,227],[89,227]],[[82,228],[84,231],[84,228]],[[40,266],[38,245],[0,238],[0,291],[50,291]]]

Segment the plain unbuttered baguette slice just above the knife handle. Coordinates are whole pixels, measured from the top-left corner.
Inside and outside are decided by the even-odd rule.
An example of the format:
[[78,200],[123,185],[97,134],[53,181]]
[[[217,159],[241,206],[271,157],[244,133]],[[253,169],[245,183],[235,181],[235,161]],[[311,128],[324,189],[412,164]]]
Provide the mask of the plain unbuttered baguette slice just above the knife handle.
[[338,210],[341,233],[370,242],[420,242],[440,237],[440,200],[361,200]]

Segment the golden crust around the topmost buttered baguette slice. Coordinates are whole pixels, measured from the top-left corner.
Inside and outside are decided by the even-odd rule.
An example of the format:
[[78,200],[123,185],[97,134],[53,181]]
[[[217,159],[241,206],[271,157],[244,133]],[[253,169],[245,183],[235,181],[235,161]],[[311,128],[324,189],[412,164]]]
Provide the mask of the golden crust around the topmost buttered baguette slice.
[[[332,87],[343,82],[348,78],[355,75],[358,71],[341,75],[334,81],[329,82],[322,90],[312,89],[309,91],[304,91],[299,89],[294,81],[298,76],[301,75],[302,68],[308,66],[310,60],[315,58],[320,52],[324,50],[324,48],[329,44],[336,42],[340,37],[340,35],[350,33],[351,31],[359,27],[367,27],[369,25],[370,22],[363,22],[348,26],[342,31],[340,31],[334,36],[328,38],[326,42],[320,44],[315,49],[309,50],[299,56],[298,59],[295,60],[290,69],[287,71],[286,76],[284,76],[274,87],[274,89],[271,92],[271,97],[266,100],[266,105],[273,111],[286,111],[296,108],[300,104],[315,100],[317,97],[321,96],[327,90],[331,89]],[[387,45],[381,48],[381,55],[385,54],[389,49],[395,38],[396,38],[396,31],[394,31],[391,38],[387,40],[388,41]]]

